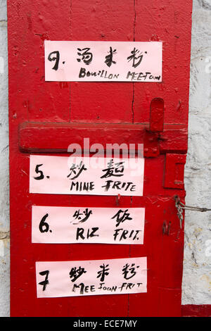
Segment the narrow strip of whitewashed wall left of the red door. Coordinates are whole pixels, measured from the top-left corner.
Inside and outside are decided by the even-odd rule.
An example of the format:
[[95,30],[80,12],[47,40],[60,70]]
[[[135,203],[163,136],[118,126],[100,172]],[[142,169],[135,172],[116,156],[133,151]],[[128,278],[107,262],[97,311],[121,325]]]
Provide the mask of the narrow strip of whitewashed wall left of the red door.
[[0,316],[9,315],[8,79],[6,0],[0,0]]

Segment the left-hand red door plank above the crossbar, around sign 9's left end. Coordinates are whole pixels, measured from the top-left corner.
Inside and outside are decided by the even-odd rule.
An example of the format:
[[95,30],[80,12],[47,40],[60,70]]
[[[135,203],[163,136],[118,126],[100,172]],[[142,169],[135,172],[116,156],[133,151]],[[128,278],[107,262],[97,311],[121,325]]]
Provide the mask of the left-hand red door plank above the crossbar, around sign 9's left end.
[[69,83],[44,79],[44,39],[70,39],[70,2],[8,0],[10,112],[18,119],[70,120]]

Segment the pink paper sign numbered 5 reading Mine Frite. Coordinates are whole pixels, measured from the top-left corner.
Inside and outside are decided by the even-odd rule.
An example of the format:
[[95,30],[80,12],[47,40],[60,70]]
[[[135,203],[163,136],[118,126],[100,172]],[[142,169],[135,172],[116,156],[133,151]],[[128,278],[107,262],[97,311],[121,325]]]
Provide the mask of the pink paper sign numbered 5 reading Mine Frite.
[[142,196],[143,158],[30,156],[30,193]]

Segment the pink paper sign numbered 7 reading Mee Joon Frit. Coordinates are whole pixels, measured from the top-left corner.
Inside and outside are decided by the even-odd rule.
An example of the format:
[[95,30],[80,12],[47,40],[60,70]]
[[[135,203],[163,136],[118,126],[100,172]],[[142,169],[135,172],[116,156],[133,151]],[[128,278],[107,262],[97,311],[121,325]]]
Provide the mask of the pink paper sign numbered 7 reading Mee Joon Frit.
[[146,257],[37,262],[37,297],[147,292]]

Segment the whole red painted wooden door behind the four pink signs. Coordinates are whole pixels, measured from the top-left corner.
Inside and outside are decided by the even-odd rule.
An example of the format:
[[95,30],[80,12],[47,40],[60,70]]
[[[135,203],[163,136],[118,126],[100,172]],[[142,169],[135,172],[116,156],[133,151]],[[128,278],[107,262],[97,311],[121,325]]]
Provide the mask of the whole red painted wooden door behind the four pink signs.
[[[179,316],[184,232],[173,197],[185,192],[163,187],[164,154],[186,154],[191,6],[191,0],[8,0],[11,316]],[[45,82],[44,39],[162,40],[163,82]],[[146,207],[144,244],[32,244],[32,205],[113,207],[116,197],[30,194],[30,152],[67,155],[61,153],[83,137],[103,146],[144,141],[150,149],[146,129],[157,97],[165,101],[158,157],[146,158],[143,197],[120,197],[120,207]],[[171,223],[169,235],[164,223]],[[147,256],[146,294],[37,299],[36,261],[127,256]]]

